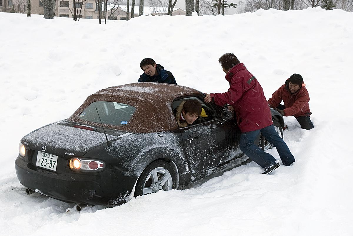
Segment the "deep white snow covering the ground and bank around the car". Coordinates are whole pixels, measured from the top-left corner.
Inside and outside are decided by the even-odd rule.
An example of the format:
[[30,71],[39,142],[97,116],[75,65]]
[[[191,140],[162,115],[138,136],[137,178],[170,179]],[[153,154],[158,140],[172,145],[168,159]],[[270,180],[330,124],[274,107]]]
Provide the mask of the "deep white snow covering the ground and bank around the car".
[[[1,235],[353,235],[353,13],[258,10],[105,25],[0,13],[0,25]],[[291,74],[303,75],[315,128],[303,130],[286,117],[293,166],[263,175],[250,163],[190,189],[81,212],[25,195],[14,170],[25,134],[69,117],[91,93],[137,81],[146,57],[180,85],[226,91],[217,60],[228,52],[267,98]]]

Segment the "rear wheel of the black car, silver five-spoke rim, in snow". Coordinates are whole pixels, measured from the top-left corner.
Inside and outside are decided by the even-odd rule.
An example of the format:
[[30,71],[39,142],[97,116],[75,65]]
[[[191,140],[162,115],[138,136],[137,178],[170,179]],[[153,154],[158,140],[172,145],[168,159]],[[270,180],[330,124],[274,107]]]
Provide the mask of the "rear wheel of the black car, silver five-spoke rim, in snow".
[[177,188],[177,171],[168,162],[157,160],[149,164],[140,175],[134,196],[168,191]]

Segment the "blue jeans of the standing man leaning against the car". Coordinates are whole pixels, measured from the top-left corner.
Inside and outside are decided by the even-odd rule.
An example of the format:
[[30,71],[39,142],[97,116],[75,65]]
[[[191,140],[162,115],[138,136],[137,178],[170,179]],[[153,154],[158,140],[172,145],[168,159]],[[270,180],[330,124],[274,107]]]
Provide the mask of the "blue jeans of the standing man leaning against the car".
[[252,161],[256,162],[262,168],[268,168],[271,164],[277,161],[272,155],[262,151],[261,148],[254,144],[254,141],[260,132],[272,146],[276,147],[283,165],[291,165],[295,161],[287,144],[278,135],[273,125],[258,129],[256,131],[241,133],[240,150],[243,151]]

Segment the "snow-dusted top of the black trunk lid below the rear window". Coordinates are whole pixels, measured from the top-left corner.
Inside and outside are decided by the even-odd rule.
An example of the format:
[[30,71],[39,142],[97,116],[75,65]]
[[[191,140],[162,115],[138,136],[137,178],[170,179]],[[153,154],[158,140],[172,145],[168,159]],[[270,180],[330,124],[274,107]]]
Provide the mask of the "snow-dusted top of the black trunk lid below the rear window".
[[[54,123],[33,131],[22,138],[28,147],[41,150],[46,146],[46,151],[51,154],[83,155],[85,152],[106,143],[104,133],[67,126],[65,121]],[[123,134],[124,132],[121,132]],[[107,135],[109,140],[116,136]],[[66,154],[67,154],[66,153]],[[69,154],[69,155],[70,155]]]

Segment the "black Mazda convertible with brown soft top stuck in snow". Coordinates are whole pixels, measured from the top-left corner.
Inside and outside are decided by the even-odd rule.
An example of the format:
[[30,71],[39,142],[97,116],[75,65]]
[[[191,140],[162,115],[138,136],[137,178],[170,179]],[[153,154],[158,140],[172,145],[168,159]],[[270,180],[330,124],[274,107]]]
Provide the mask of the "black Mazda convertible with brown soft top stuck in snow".
[[[222,119],[227,108],[204,104],[204,97],[161,83],[100,90],[70,118],[22,138],[17,177],[26,188],[55,199],[114,205],[240,165],[247,157],[239,149],[236,119]],[[179,128],[173,110],[186,99],[199,100],[208,117]],[[283,119],[273,112],[282,134]],[[260,137],[257,142],[266,144]]]

